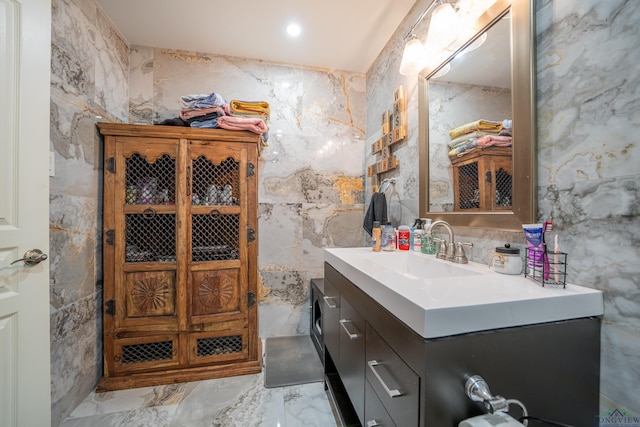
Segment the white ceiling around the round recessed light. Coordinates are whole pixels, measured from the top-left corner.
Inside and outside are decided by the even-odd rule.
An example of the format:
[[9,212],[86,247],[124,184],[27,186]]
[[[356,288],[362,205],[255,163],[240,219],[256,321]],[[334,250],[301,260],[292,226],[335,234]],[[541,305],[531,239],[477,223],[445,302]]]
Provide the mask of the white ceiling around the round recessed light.
[[365,73],[416,0],[97,1],[131,45]]

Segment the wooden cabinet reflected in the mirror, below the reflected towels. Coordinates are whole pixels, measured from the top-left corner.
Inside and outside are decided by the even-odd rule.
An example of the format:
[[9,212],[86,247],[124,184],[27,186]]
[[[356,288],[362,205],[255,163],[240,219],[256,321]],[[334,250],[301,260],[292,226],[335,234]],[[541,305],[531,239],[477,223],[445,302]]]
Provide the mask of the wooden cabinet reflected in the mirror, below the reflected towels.
[[455,211],[511,210],[511,147],[476,149],[451,164]]

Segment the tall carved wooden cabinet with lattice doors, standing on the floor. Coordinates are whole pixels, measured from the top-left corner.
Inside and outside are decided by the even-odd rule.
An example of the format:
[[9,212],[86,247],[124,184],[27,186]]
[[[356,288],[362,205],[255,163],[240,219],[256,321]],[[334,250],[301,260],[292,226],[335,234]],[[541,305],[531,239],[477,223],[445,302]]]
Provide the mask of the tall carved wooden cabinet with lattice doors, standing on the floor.
[[104,376],[115,390],[260,372],[250,132],[99,124]]

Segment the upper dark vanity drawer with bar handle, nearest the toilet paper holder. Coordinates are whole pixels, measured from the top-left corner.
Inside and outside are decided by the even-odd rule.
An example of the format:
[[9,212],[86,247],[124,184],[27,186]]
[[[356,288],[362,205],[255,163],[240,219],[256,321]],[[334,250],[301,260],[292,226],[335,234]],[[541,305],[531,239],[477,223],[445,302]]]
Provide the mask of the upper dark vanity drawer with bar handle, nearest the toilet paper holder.
[[417,426],[420,377],[367,323],[366,377],[396,425]]

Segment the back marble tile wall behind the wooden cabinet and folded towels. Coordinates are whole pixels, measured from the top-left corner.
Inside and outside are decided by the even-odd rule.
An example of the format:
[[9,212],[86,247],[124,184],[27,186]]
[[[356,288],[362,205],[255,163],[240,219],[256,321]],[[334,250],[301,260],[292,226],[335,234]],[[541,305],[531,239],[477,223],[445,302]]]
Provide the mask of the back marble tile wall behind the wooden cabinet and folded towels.
[[363,241],[363,74],[132,46],[129,121],[177,117],[180,96],[267,101],[259,168],[260,336],[306,334],[324,247]]

